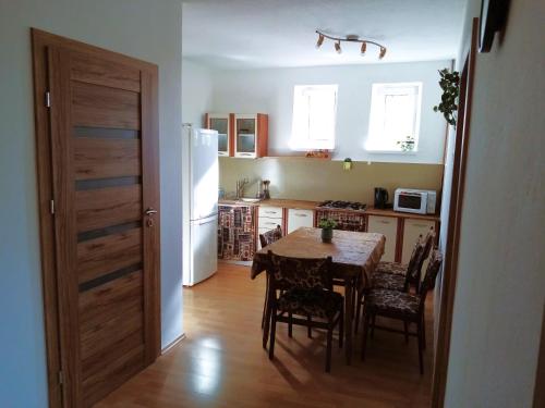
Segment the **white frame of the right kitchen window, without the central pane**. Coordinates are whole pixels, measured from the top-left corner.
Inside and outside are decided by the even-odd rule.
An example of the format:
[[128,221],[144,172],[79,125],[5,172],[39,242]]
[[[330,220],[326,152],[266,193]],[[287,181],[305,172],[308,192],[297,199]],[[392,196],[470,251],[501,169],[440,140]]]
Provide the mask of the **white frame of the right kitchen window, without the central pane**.
[[[370,126],[367,138],[364,144],[364,148],[366,151],[368,151],[370,153],[398,154],[414,154],[419,151],[420,122],[422,115],[422,87],[423,85],[421,82],[373,84],[371,96]],[[415,109],[412,126],[414,148],[410,151],[403,151],[401,147],[385,148],[384,144],[380,144],[380,139],[386,137],[384,135],[384,123],[386,121],[385,99],[387,96],[407,95],[408,92],[415,95]]]

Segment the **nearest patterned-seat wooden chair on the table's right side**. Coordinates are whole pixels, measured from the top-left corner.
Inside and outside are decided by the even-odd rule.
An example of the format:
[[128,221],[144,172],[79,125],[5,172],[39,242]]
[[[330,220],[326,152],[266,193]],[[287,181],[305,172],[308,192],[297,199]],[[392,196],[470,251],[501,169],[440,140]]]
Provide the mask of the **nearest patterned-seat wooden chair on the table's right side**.
[[[371,326],[372,337],[375,329],[404,334],[405,342],[409,342],[409,336],[416,336],[419,338],[420,372],[421,374],[424,373],[423,351],[426,343],[424,308],[427,292],[435,285],[435,279],[437,277],[441,262],[443,257],[440,252],[438,250],[434,250],[432,252],[426,274],[422,281],[419,294],[413,295],[398,290],[371,289],[367,296],[365,296],[363,308],[362,360],[365,359],[367,333]],[[401,320],[403,322],[404,330],[401,331],[376,325],[375,322],[377,316]],[[409,331],[409,326],[412,323],[416,325],[416,332]]]

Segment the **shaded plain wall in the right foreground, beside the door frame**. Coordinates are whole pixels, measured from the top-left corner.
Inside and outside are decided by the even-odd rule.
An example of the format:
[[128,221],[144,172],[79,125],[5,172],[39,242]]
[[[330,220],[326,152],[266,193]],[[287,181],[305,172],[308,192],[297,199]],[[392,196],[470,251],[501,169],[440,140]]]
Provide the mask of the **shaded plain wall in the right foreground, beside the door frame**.
[[[480,4],[470,1],[468,23]],[[545,302],[544,21],[543,1],[511,1],[505,37],[476,58],[447,408],[532,406]]]

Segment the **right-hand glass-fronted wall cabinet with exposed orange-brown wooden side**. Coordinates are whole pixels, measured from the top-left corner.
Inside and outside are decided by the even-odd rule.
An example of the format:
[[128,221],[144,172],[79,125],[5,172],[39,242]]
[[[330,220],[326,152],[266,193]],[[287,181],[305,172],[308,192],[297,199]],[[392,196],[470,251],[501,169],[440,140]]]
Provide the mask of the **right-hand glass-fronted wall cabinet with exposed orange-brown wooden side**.
[[268,148],[268,115],[234,114],[234,157],[263,158]]

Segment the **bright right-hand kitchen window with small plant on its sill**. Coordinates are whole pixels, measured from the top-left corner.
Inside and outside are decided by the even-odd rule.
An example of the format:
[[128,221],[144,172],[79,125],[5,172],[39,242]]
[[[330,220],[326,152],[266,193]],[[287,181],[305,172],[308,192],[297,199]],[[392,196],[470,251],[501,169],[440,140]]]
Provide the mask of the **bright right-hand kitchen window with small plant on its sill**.
[[373,84],[366,150],[416,151],[422,83]]

